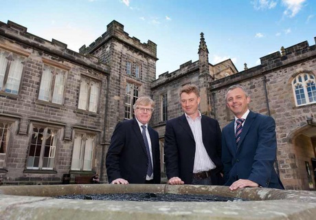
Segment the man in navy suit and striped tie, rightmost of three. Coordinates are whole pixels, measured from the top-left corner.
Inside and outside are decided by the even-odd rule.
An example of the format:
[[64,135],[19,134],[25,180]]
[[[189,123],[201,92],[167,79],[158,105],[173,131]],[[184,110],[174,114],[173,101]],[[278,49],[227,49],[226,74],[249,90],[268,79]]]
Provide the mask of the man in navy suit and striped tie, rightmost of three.
[[225,185],[231,190],[259,186],[283,189],[273,166],[277,148],[275,121],[249,111],[250,97],[240,85],[229,87],[225,100],[235,115],[222,131]]

